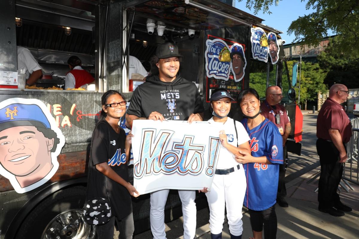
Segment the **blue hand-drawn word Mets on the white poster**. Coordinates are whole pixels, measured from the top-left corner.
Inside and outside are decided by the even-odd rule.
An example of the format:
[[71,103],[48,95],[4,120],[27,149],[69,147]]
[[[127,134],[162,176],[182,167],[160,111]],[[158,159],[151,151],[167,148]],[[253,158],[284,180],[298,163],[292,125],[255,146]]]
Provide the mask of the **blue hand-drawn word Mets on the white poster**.
[[[201,173],[204,168],[205,146],[194,144],[194,136],[184,135],[182,142],[174,142],[172,148],[168,150],[167,146],[173,134],[172,130],[160,130],[155,136],[155,129],[143,129],[140,159],[134,165],[136,178],[159,173],[180,175]],[[218,142],[213,143],[213,147],[219,147]]]

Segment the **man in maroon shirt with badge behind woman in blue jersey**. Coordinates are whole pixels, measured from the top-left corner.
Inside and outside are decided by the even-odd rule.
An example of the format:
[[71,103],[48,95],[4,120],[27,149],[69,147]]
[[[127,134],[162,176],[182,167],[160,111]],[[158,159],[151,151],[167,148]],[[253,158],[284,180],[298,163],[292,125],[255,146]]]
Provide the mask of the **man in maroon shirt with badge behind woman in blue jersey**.
[[278,191],[277,191],[277,202],[281,207],[288,207],[288,202],[284,199],[287,195],[285,188],[285,171],[288,165],[288,154],[285,143],[288,139],[291,126],[287,115],[287,111],[283,105],[280,105],[282,100],[282,89],[278,86],[270,86],[266,90],[266,100],[261,104],[262,115],[272,121],[279,130],[279,133],[283,137],[283,164],[279,166],[279,178],[278,178]]

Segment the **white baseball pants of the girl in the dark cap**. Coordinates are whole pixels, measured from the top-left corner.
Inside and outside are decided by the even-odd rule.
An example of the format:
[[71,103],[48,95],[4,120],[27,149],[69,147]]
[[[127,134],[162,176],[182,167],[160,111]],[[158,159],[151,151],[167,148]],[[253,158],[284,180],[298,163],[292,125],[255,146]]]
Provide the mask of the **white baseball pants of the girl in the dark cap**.
[[246,193],[246,176],[241,168],[228,175],[214,175],[211,191],[206,193],[209,205],[209,228],[212,234],[222,232],[224,207],[227,209],[229,231],[234,236],[242,235],[242,206]]

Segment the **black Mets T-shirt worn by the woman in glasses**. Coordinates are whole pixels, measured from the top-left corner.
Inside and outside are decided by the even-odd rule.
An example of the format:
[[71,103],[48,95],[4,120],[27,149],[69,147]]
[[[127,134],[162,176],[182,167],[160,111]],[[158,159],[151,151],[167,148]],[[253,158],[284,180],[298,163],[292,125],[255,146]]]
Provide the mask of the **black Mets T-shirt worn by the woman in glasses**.
[[[108,165],[127,182],[129,175],[125,153],[125,131],[116,133],[106,120],[100,121],[92,134],[87,200],[94,197],[109,199],[112,216],[122,219],[132,212],[131,195],[125,187],[99,172],[95,165]],[[108,196],[107,196],[108,195]]]

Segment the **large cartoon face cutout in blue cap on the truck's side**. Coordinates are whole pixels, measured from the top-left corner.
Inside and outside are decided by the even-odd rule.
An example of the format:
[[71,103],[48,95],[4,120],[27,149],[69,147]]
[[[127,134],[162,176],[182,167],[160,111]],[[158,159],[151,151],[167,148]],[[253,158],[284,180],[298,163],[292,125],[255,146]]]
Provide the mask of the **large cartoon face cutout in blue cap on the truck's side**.
[[64,135],[41,101],[0,102],[0,173],[15,191],[28,192],[48,181],[59,167],[56,156],[64,143]]

